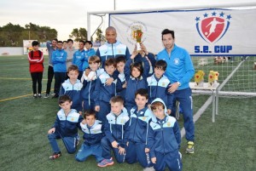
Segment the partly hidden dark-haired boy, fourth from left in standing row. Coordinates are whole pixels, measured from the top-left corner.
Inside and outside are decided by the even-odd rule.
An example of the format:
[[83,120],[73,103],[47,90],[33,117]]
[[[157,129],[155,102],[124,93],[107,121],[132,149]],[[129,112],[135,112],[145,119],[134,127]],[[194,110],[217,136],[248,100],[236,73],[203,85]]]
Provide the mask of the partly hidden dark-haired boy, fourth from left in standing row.
[[118,93],[118,95],[122,96],[125,100],[126,93],[126,80],[125,80],[125,56],[119,56],[115,59],[117,70],[119,71],[119,79],[122,83],[122,90]]

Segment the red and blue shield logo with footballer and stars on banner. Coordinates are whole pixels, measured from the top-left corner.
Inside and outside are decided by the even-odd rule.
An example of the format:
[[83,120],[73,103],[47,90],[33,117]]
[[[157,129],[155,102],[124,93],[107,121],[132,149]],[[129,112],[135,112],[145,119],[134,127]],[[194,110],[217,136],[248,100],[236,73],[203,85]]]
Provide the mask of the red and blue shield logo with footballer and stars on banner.
[[207,43],[216,43],[229,30],[231,18],[230,14],[215,11],[196,16],[196,30]]

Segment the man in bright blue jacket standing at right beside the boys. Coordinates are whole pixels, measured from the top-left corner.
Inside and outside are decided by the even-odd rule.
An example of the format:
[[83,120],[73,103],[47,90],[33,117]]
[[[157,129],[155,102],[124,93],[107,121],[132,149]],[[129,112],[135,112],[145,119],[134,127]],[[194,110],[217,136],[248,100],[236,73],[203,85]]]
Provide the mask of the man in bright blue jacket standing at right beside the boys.
[[[179,100],[183,109],[184,128],[186,140],[188,140],[186,152],[194,153],[195,125],[193,123],[191,89],[189,88],[189,80],[195,74],[194,66],[189,53],[174,43],[174,31],[165,29],[161,34],[165,49],[157,55],[157,60],[166,60],[165,75],[171,82],[168,91],[173,94],[173,100]],[[172,109],[173,111],[175,110]]]

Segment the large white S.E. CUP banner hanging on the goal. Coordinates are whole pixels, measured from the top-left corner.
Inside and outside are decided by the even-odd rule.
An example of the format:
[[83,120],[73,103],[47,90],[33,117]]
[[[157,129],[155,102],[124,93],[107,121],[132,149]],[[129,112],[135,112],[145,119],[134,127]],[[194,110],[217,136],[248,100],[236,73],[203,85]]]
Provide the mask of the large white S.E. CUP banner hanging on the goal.
[[256,55],[256,9],[198,9],[147,13],[109,14],[118,40],[132,51],[134,31],[143,31],[142,42],[158,54],[161,31],[175,31],[175,43],[193,56]]

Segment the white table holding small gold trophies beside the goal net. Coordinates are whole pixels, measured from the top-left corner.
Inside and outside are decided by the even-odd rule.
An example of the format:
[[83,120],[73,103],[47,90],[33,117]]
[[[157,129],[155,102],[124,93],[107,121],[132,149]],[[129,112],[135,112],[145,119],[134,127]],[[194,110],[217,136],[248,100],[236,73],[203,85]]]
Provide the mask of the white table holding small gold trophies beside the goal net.
[[212,86],[209,86],[209,83],[203,83],[202,86],[198,86],[195,82],[189,83],[191,89],[212,91],[212,123],[215,122],[215,116],[218,115],[218,85],[219,83],[214,83]]

